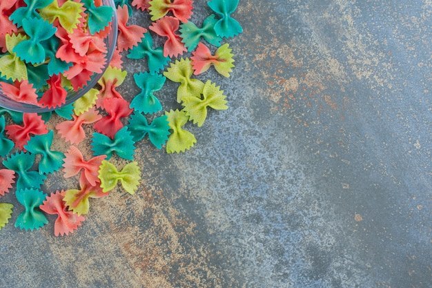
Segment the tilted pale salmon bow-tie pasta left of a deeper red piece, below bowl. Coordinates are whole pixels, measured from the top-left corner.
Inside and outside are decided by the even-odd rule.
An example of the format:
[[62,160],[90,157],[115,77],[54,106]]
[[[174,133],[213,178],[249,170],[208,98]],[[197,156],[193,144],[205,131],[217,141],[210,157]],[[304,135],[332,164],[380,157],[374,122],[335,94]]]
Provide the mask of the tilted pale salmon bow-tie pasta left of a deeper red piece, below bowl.
[[95,107],[92,107],[81,115],[72,115],[72,117],[73,120],[63,121],[57,124],[55,128],[66,142],[79,144],[86,137],[86,133],[81,125],[94,123],[101,119],[102,116],[97,113]]

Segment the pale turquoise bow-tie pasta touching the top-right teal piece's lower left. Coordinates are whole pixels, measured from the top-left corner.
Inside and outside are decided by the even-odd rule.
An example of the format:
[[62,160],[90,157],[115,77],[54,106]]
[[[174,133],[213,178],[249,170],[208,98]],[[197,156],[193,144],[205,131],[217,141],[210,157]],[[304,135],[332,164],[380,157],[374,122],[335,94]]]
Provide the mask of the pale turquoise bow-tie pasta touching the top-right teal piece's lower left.
[[188,48],[188,52],[193,51],[201,38],[204,38],[209,44],[219,47],[222,37],[216,34],[215,24],[217,23],[216,15],[212,14],[202,23],[202,28],[198,28],[194,23],[188,21],[180,25],[181,42]]

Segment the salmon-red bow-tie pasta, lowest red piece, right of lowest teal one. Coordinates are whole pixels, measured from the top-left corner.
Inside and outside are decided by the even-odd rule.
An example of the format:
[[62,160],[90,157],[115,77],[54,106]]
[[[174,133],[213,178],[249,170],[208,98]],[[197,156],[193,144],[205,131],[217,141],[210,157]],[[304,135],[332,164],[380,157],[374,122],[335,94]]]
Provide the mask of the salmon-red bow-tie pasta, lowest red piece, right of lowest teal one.
[[74,230],[78,229],[81,222],[84,221],[84,217],[78,214],[68,211],[66,204],[63,202],[65,191],[55,191],[51,193],[43,204],[39,206],[42,211],[58,215],[54,223],[54,235],[65,236],[69,233],[73,233]]

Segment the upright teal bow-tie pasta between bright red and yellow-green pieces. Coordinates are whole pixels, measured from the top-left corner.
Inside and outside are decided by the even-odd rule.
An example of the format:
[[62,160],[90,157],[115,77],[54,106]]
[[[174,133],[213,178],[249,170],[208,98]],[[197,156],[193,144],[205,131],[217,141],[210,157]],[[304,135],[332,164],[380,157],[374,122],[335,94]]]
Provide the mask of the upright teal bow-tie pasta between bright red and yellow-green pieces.
[[141,93],[132,99],[130,108],[134,108],[136,111],[145,114],[161,111],[161,102],[159,102],[159,99],[157,99],[153,93],[157,90],[161,90],[165,84],[166,78],[159,74],[144,72],[134,74],[133,79],[135,79],[135,84],[141,88]]

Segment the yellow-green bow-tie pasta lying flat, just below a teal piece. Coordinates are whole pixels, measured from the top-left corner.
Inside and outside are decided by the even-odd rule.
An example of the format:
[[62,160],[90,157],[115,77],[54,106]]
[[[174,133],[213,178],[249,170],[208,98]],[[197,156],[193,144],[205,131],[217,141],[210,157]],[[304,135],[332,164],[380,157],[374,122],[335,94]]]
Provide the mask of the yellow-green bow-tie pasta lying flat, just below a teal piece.
[[141,171],[139,171],[138,163],[135,161],[126,164],[121,171],[118,171],[114,164],[104,160],[99,168],[99,179],[104,192],[114,189],[117,182],[120,181],[121,186],[128,193],[135,194],[139,180],[141,180]]

